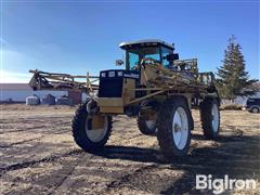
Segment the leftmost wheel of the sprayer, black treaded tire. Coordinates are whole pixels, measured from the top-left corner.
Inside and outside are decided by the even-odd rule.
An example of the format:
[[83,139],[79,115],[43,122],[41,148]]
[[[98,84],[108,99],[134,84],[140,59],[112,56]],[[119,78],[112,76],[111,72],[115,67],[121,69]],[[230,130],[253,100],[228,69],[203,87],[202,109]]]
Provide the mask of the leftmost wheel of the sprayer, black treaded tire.
[[[75,113],[72,126],[73,136],[75,142],[86,152],[100,151],[109,139],[112,132],[112,117],[91,116],[87,112],[87,103],[80,105]],[[101,120],[104,125],[94,128],[94,120]]]

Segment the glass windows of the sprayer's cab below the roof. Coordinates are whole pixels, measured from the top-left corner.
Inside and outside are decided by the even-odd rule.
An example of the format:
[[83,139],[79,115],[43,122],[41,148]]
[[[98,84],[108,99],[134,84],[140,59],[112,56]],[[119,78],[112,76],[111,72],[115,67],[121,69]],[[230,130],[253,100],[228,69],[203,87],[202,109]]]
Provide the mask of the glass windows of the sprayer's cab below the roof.
[[160,63],[160,49],[158,47],[129,49],[127,52],[127,69],[136,69],[142,58],[148,57]]

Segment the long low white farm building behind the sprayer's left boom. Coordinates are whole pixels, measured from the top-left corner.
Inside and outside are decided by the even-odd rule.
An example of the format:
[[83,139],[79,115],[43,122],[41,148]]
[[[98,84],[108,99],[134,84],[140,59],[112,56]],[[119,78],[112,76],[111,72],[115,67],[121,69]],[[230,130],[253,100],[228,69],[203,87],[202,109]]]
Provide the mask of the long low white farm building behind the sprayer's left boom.
[[81,103],[82,95],[75,91],[34,91],[28,83],[0,83],[0,102],[25,102],[27,96],[36,94],[40,99],[52,94],[55,98],[66,95],[73,100],[74,104]]

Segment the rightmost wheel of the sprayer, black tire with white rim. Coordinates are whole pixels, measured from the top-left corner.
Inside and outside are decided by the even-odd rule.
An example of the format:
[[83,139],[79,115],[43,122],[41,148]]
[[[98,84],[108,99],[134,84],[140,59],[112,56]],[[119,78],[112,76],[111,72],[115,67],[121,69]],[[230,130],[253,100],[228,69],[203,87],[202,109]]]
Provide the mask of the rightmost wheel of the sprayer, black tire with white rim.
[[214,140],[220,131],[219,102],[216,99],[205,99],[199,107],[204,135],[208,140]]

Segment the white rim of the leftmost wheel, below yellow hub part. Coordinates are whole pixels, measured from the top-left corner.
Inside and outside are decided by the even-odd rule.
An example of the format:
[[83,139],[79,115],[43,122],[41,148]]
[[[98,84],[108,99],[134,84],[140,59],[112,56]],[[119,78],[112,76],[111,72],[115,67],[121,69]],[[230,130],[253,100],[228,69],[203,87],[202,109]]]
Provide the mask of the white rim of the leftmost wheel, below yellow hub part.
[[106,132],[107,132],[107,125],[108,125],[108,119],[107,119],[107,116],[105,116],[105,122],[104,122],[104,127],[101,128],[101,129],[89,129],[88,127],[88,120],[90,120],[91,117],[88,116],[87,119],[86,119],[86,133],[87,133],[87,136],[88,139],[91,141],[91,142],[100,142],[102,139],[104,139]]

